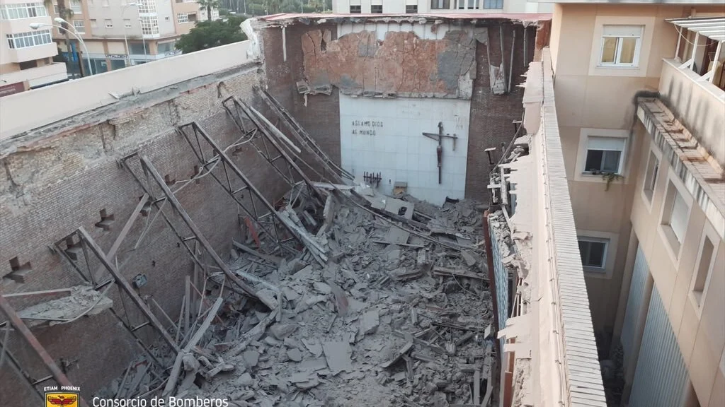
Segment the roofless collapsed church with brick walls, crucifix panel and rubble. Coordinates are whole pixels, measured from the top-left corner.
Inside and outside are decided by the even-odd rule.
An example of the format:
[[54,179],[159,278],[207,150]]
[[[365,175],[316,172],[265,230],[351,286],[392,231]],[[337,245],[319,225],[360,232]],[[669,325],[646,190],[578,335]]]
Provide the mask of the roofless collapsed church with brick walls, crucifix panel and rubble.
[[497,403],[487,175],[548,18],[280,14],[4,98],[4,400]]

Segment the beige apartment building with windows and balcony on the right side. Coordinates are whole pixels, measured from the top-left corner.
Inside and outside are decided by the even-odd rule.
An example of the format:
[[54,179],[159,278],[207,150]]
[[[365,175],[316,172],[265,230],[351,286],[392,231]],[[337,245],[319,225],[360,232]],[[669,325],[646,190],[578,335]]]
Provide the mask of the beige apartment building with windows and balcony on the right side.
[[555,4],[558,127],[622,405],[723,406],[725,9],[666,3]]

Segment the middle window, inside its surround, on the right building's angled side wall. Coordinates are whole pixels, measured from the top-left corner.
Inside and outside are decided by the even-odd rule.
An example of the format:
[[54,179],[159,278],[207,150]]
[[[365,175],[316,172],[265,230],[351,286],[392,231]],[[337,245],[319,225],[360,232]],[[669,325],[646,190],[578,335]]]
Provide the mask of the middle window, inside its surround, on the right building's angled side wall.
[[680,248],[687,231],[692,196],[687,193],[687,190],[684,190],[684,187],[682,187],[682,191],[677,188],[675,182],[679,182],[679,180],[676,180],[676,175],[672,172],[669,179],[665,202],[662,205],[660,230],[664,240],[669,244],[669,248],[672,249],[671,254],[676,261],[679,259]]

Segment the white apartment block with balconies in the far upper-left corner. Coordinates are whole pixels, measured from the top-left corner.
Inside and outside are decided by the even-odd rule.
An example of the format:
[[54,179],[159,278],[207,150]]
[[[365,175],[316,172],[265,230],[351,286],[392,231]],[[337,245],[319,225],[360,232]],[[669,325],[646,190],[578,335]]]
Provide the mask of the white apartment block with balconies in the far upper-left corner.
[[50,25],[42,1],[0,0],[0,96],[67,80],[65,64],[53,62],[58,49],[49,28],[33,30],[31,23]]

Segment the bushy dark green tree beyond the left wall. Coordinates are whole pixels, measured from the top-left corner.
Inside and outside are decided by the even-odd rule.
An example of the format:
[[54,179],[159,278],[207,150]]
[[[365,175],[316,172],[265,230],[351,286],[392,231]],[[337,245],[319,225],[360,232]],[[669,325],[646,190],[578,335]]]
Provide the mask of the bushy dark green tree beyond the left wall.
[[245,17],[230,16],[228,20],[197,22],[188,34],[181,35],[176,41],[176,49],[183,54],[214,48],[215,46],[236,43],[247,39],[241,32],[241,22]]

